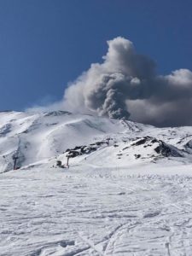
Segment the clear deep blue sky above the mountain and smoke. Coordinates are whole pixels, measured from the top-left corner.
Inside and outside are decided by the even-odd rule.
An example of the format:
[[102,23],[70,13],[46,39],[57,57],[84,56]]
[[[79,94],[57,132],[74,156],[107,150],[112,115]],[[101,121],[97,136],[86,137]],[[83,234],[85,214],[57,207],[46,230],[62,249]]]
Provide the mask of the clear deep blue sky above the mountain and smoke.
[[191,0],[0,0],[0,110],[60,100],[117,36],[158,73],[192,70],[191,9]]

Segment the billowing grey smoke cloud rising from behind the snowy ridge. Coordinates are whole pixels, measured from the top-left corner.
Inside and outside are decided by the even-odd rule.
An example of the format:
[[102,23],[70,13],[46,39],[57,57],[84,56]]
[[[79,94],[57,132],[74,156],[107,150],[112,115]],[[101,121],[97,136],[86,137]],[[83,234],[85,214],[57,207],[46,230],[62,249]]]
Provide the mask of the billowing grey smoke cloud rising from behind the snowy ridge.
[[108,41],[103,63],[91,64],[65,90],[64,108],[151,125],[192,125],[192,72],[179,69],[162,76],[131,41]]

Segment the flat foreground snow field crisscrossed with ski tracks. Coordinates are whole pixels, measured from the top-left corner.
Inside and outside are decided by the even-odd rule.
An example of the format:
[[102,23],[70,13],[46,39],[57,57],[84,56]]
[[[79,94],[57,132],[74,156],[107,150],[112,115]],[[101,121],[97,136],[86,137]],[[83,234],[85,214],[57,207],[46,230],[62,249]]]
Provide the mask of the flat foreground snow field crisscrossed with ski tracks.
[[0,255],[192,255],[191,177],[52,168],[0,188]]

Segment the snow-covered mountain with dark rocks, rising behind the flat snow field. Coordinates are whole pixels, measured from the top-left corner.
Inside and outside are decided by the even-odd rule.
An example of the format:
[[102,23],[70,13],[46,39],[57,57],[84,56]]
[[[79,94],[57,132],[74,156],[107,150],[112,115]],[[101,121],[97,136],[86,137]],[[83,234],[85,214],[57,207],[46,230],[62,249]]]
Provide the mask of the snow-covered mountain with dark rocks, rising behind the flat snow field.
[[155,128],[127,120],[72,114],[0,113],[1,172],[27,166],[117,167],[170,159],[192,161],[192,127]]

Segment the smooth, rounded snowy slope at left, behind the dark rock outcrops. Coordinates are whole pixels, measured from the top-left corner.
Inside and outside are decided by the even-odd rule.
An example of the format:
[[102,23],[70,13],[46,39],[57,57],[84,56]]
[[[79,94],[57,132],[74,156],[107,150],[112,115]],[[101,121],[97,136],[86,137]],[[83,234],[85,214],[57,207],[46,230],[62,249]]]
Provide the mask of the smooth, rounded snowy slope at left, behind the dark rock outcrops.
[[19,166],[25,166],[77,144],[91,143],[98,136],[125,131],[115,120],[67,112],[0,113],[0,125],[2,172],[13,169],[14,154],[19,155]]

